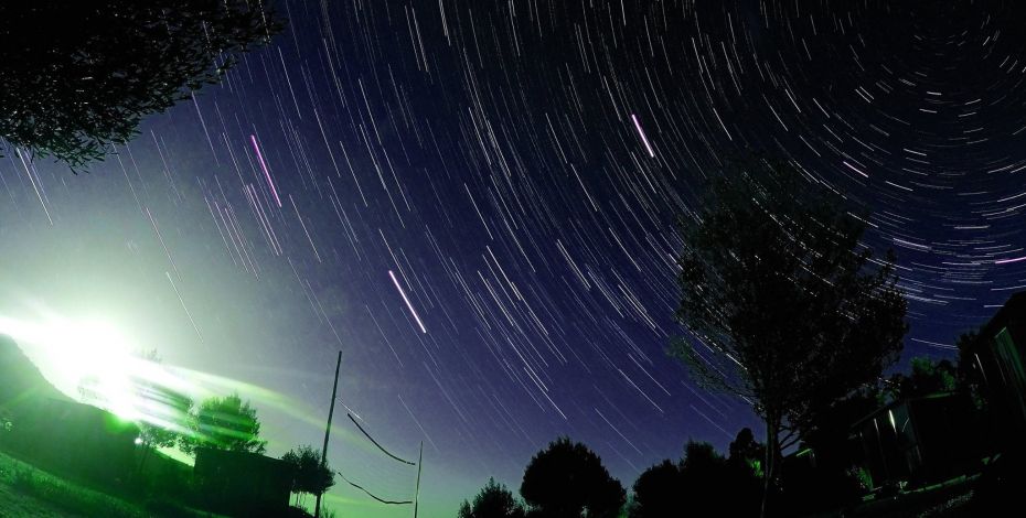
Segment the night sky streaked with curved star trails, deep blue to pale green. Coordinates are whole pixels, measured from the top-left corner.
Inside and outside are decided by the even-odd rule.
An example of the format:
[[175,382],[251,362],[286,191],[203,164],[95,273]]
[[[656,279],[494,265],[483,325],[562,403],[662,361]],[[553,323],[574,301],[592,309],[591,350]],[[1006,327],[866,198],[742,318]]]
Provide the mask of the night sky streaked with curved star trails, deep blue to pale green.
[[[0,161],[0,311],[92,315],[235,380],[275,456],[423,516],[560,434],[626,486],[750,408],[664,349],[674,222],[791,160],[898,255],[904,358],[1026,288],[1022,2],[291,0],[272,44],[72,174]],[[248,384],[248,385],[242,385]],[[217,384],[214,384],[217,385]],[[409,516],[339,479],[340,516]]]

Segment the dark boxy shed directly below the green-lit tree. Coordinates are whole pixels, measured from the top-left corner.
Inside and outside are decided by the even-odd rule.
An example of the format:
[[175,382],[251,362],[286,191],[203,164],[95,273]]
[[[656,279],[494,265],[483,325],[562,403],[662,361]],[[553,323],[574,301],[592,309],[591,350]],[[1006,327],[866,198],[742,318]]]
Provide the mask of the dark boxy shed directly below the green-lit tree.
[[292,478],[285,461],[248,452],[200,449],[193,467],[200,501],[229,516],[286,516]]

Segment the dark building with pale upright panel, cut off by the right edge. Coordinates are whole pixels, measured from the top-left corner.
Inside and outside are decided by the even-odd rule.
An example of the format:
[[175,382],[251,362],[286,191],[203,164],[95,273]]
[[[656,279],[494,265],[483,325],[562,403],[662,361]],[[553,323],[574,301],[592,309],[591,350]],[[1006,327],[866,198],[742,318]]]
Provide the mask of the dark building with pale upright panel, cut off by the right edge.
[[1012,295],[962,352],[986,400],[991,428],[1002,450],[1026,438],[1026,292]]

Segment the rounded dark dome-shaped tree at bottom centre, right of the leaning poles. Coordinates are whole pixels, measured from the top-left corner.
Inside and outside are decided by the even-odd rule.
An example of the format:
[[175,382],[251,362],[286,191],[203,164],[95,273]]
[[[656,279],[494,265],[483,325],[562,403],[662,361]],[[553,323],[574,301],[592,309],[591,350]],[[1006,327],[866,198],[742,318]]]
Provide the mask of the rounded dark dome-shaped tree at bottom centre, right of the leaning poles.
[[531,458],[520,494],[528,516],[538,518],[614,518],[627,500],[623,486],[601,458],[568,438],[553,441]]

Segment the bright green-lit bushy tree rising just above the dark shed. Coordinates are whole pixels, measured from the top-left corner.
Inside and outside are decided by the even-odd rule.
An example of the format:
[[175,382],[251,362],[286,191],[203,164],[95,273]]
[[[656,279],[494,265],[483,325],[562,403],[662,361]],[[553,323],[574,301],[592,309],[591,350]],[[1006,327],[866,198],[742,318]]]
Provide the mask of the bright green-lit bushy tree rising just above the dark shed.
[[252,453],[264,453],[266,449],[267,441],[259,439],[256,409],[237,393],[204,400],[190,421],[192,433],[183,435],[179,446],[191,455],[199,447]]

